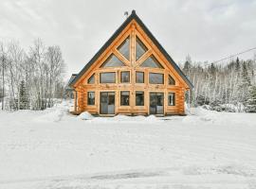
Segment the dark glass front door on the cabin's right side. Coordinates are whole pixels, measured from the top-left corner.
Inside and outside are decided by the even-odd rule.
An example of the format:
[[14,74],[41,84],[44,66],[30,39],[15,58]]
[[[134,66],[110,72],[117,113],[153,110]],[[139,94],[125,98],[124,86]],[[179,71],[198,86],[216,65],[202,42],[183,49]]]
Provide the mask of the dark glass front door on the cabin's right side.
[[150,114],[164,114],[163,104],[163,93],[150,93]]

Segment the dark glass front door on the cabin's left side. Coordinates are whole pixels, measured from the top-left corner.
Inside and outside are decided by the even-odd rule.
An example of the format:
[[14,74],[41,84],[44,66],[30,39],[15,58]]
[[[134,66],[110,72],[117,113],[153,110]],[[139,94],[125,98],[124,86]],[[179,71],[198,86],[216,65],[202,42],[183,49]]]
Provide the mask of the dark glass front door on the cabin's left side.
[[115,114],[115,92],[101,92],[101,114]]

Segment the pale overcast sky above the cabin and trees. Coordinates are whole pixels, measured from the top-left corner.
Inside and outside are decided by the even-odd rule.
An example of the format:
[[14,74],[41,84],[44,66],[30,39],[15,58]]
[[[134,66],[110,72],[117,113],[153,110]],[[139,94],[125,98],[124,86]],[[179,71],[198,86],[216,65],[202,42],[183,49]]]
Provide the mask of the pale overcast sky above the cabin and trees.
[[132,9],[177,62],[256,47],[256,0],[1,0],[0,40],[58,44],[67,75],[78,73]]

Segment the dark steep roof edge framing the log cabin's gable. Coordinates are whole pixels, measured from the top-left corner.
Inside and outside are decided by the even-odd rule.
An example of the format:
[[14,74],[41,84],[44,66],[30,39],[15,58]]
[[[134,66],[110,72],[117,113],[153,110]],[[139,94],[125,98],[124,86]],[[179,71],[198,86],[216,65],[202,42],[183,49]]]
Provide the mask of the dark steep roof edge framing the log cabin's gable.
[[177,66],[177,64],[174,62],[174,60],[171,58],[171,56],[166,52],[166,50],[162,47],[160,43],[155,39],[154,35],[151,33],[151,31],[148,29],[147,26],[143,24],[143,22],[138,18],[136,11],[133,10],[132,14],[123,22],[121,26],[116,30],[116,32],[111,36],[111,38],[104,43],[104,45],[101,47],[101,49],[96,53],[96,55],[82,68],[82,71],[69,83],[70,87],[72,87],[80,77],[89,69],[89,67],[101,56],[101,53],[103,53],[106,48],[114,42],[114,40],[119,36],[120,32],[128,26],[131,21],[135,19],[137,24],[141,26],[143,31],[148,35],[148,37],[152,40],[153,43],[157,46],[157,48],[160,50],[160,52],[164,55],[164,57],[172,64],[175,71],[182,77],[185,82],[193,88],[192,82],[183,74],[183,72],[180,70],[180,68]]

